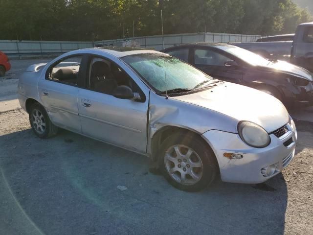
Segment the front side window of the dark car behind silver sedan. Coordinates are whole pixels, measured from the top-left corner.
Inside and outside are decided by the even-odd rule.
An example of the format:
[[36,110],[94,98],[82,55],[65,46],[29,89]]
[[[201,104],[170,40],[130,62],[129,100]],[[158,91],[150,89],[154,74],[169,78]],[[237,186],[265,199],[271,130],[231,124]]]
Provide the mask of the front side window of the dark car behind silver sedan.
[[195,49],[196,65],[224,66],[229,60],[231,59],[212,50]]

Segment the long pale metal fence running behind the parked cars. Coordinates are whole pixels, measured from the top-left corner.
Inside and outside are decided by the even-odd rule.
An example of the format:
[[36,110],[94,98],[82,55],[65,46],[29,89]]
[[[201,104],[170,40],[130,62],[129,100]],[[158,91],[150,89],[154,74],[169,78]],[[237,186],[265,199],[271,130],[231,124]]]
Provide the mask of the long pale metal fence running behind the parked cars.
[[[208,42],[255,42],[261,36],[226,33],[186,33],[164,35],[164,47],[172,47],[185,43]],[[162,49],[162,36],[135,37],[130,39],[103,40],[99,42],[55,42],[55,41],[0,41],[0,50],[9,56],[62,54],[64,52],[95,47],[122,46],[123,42],[134,40],[137,45],[145,48]]]

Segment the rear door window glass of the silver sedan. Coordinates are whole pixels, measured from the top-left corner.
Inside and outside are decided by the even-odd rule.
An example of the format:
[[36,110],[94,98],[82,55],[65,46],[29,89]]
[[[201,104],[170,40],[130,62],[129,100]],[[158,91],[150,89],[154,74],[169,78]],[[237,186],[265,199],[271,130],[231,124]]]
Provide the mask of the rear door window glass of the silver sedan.
[[73,56],[50,68],[47,79],[77,86],[83,56]]

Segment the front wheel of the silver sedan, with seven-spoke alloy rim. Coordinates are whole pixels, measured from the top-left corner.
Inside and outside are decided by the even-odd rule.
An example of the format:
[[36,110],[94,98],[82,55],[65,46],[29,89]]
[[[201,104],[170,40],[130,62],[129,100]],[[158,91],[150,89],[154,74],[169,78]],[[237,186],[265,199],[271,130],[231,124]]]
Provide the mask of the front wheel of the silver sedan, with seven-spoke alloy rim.
[[175,188],[199,191],[210,185],[217,173],[215,155],[200,137],[175,134],[160,146],[160,169]]

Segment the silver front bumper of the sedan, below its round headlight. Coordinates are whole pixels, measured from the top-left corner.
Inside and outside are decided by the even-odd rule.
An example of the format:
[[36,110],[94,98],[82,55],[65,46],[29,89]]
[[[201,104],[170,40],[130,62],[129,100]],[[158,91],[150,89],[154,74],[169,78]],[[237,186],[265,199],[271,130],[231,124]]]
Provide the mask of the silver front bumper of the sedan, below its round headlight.
[[[297,131],[295,126],[287,126],[289,131],[280,138],[270,134],[271,142],[265,148],[251,147],[242,141],[238,134],[218,130],[207,131],[202,138],[210,144],[215,153],[222,181],[258,184],[277,175],[293,159]],[[285,146],[284,143],[289,144]],[[241,154],[243,158],[229,159],[223,156],[224,153]],[[275,166],[270,176],[267,175],[269,165]]]

